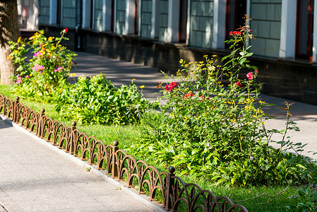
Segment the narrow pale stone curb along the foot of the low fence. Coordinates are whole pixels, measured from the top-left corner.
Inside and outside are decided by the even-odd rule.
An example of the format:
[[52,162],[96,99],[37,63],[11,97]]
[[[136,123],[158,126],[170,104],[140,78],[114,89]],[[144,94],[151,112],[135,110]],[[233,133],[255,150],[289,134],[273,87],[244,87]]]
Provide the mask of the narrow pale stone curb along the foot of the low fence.
[[107,175],[105,175],[104,171],[97,170],[97,167],[95,165],[89,165],[87,162],[80,160],[79,158],[76,158],[75,156],[69,153],[66,153],[66,151],[64,151],[63,149],[53,146],[51,143],[45,141],[44,139],[40,139],[40,137],[36,136],[28,129],[25,129],[23,126],[20,126],[12,122],[11,119],[4,117],[2,114],[0,114],[0,117],[2,120],[4,120],[4,122],[10,124],[16,130],[28,134],[28,136],[31,136],[33,139],[35,139],[35,141],[41,143],[44,146],[47,146],[47,148],[51,149],[54,152],[59,153],[60,155],[64,156],[64,158],[71,160],[76,165],[79,165],[80,167],[83,167],[85,169],[90,169],[90,172],[92,172],[94,175],[97,175],[98,177],[104,179],[105,181],[114,185],[114,187],[121,189],[124,193],[128,194],[128,196],[131,196],[133,199],[140,201],[141,203],[145,204],[145,206],[148,206],[148,208],[151,208],[154,211],[165,212],[165,209],[163,209],[160,204],[157,204],[153,201],[149,201],[149,196],[146,196],[145,194],[138,194],[138,192],[135,189],[128,188],[125,182],[120,182],[116,179],[113,179],[112,177],[108,177]]

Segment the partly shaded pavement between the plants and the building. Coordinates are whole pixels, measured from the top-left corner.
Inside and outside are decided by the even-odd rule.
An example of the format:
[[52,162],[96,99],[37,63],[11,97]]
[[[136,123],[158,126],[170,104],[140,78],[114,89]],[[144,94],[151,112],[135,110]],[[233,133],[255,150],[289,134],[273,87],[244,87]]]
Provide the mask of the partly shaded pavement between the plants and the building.
[[[143,94],[145,98],[156,100],[160,97],[157,93],[157,81],[165,81],[164,74],[155,68],[133,64],[131,62],[109,59],[100,57],[94,54],[85,52],[77,52],[76,57],[77,69],[73,70],[76,77],[80,75],[94,76],[99,73],[105,73],[115,86],[128,84],[133,78],[136,78],[137,86],[145,86]],[[162,70],[164,71],[164,70]],[[261,70],[260,70],[261,74]],[[273,103],[275,106],[265,108],[265,112],[274,115],[275,119],[270,119],[266,122],[267,129],[285,129],[285,110],[280,107],[285,106],[285,102],[294,102],[282,98],[275,98],[269,95],[261,95],[262,100],[268,103]],[[317,106],[307,105],[301,102],[295,102],[291,107],[291,113],[294,114],[292,121],[297,122],[301,131],[289,131],[288,136],[291,136],[291,141],[294,143],[309,143],[304,149],[304,154],[317,160],[317,154],[309,153],[309,151],[317,152]],[[274,136],[275,141],[280,141],[281,136]],[[275,145],[276,146],[276,145]],[[276,146],[278,147],[278,146]]]

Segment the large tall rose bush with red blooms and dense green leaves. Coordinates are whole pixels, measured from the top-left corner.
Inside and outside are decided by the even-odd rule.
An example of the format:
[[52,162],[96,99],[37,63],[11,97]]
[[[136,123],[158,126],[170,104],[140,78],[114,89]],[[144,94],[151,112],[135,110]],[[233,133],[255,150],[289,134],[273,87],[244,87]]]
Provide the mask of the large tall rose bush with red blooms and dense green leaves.
[[[266,104],[258,100],[258,69],[248,61],[252,53],[246,42],[253,35],[249,17],[245,20],[230,33],[232,52],[222,58],[223,66],[216,56],[188,64],[181,59],[184,69],[174,81],[160,83],[167,103],[160,112],[145,114],[134,154],[227,186],[301,180],[305,167],[297,164],[300,158],[269,145],[271,132],[264,128],[268,116],[261,110]],[[242,76],[241,71],[249,73]]]

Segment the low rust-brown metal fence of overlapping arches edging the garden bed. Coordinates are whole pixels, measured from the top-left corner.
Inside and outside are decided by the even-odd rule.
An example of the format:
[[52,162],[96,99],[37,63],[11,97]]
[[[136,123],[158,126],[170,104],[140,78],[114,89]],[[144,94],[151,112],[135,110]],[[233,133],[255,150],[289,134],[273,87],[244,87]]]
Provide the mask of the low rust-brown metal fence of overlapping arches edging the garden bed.
[[88,160],[90,165],[97,165],[108,175],[126,181],[128,187],[137,186],[139,194],[146,192],[151,201],[159,199],[167,211],[247,211],[244,206],[233,204],[226,196],[216,197],[197,184],[185,184],[174,175],[174,167],[169,167],[168,172],[159,172],[156,167],[143,160],[136,161],[119,149],[118,141],[106,146],[95,137],[88,137],[76,129],[76,122],[66,127],[47,117],[44,109],[37,113],[25,107],[19,98],[13,101],[0,94],[0,112],[40,138],[81,160]]

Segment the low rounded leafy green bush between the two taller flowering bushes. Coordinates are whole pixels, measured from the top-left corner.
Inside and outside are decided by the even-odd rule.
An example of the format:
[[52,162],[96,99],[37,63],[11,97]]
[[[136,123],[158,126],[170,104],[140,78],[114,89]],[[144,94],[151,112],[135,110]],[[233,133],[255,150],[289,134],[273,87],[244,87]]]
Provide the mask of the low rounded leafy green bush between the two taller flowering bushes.
[[116,88],[100,73],[90,80],[80,76],[75,85],[65,87],[57,98],[56,110],[80,124],[133,124],[147,104],[133,81]]

